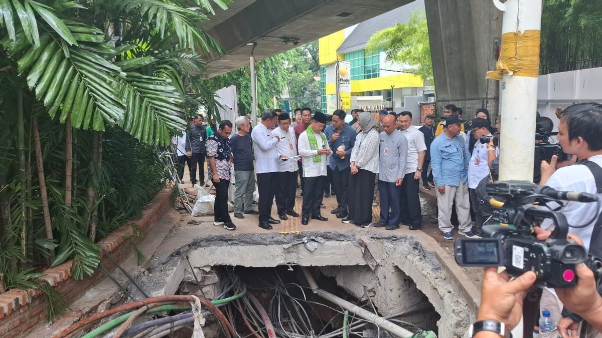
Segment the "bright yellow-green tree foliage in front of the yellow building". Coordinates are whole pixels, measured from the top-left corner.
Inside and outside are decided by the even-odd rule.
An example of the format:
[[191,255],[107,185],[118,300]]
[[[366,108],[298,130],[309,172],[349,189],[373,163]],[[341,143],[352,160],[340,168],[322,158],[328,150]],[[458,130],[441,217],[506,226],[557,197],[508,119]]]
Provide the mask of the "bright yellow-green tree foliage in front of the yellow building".
[[406,67],[406,71],[415,73],[433,85],[433,63],[430,59],[429,29],[426,25],[424,10],[416,10],[408,23],[385,28],[372,35],[366,49],[368,52],[382,48],[386,59]]

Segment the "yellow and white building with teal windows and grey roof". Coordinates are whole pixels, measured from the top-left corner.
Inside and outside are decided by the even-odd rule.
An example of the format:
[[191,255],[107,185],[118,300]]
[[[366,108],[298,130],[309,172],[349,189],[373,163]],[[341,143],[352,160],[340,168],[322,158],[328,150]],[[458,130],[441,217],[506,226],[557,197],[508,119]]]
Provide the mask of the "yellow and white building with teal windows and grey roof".
[[386,61],[385,52],[368,52],[365,46],[374,32],[406,22],[420,7],[424,8],[423,1],[412,2],[318,40],[321,111],[332,114],[337,108],[337,66],[343,109],[414,110],[405,109],[406,97],[420,96],[424,81],[403,72],[402,65]]

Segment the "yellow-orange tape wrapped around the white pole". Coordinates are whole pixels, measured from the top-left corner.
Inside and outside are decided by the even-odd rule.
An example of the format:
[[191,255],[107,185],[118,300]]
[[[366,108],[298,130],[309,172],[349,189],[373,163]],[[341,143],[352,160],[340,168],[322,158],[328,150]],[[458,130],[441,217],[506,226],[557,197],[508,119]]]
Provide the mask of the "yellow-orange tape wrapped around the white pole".
[[503,73],[538,77],[540,37],[541,31],[537,29],[530,29],[524,33],[502,34],[500,58],[495,63],[496,70],[487,72],[487,78],[501,80]]

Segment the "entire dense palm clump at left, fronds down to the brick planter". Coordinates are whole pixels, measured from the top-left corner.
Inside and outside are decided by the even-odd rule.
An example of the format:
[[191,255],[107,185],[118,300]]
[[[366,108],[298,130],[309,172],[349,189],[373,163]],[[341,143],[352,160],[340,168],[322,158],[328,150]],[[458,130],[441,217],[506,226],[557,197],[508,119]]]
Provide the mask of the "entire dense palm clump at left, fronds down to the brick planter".
[[[220,47],[200,25],[215,5],[229,2],[0,0],[0,273],[8,287],[42,290],[50,317],[65,304],[37,280],[51,250],[53,266],[73,260],[73,278],[93,274],[101,254],[90,220],[102,238],[139,216],[164,186],[157,146],[186,127],[193,105],[217,109],[214,93],[198,79],[203,54]],[[54,239],[46,238],[42,214],[34,117]],[[76,135],[70,205],[67,120]],[[103,140],[98,163],[95,137]]]

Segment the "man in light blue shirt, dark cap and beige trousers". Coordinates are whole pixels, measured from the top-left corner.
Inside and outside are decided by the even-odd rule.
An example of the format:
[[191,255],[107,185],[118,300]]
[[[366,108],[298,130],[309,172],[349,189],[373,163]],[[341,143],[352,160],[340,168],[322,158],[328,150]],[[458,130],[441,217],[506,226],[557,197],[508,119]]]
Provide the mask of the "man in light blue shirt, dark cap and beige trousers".
[[466,121],[450,115],[443,121],[443,132],[430,144],[430,165],[437,186],[439,229],[443,238],[453,239],[452,205],[456,202],[459,233],[468,238],[477,236],[470,230],[470,201],[468,197],[468,151],[462,135]]

